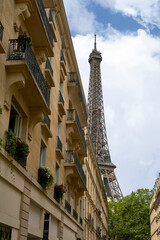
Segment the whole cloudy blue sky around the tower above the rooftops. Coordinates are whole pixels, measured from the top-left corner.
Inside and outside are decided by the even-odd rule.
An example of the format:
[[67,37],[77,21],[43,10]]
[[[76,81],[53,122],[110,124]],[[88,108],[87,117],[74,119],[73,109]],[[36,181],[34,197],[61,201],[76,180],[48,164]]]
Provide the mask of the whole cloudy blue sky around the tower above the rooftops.
[[160,0],[64,0],[84,92],[88,57],[102,52],[107,136],[124,195],[160,172]]

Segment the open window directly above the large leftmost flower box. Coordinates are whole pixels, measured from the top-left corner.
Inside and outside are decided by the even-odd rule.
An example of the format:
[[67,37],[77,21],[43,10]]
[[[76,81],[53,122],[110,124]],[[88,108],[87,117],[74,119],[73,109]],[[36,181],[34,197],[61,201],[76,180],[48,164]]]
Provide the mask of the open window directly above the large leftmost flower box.
[[22,117],[14,105],[11,105],[9,130],[14,132],[17,137],[21,137]]

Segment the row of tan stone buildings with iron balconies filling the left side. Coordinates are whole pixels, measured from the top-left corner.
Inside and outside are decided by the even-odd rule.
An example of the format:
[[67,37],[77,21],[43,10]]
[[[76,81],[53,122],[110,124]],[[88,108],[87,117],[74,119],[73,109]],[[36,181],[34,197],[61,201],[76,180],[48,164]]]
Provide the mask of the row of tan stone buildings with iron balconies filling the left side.
[[0,240],[107,239],[62,0],[0,0],[0,72]]

